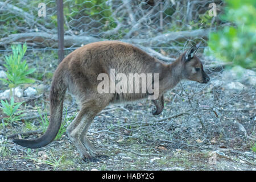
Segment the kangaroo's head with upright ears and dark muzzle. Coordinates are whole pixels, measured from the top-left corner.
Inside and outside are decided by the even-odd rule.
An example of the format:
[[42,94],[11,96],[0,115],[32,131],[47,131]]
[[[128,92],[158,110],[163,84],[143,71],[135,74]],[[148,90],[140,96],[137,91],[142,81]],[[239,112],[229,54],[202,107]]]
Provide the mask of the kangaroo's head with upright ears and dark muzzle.
[[192,46],[181,56],[181,62],[183,63],[182,72],[184,78],[206,84],[210,78],[204,72],[203,64],[195,55],[200,44],[201,42],[196,44],[196,46]]

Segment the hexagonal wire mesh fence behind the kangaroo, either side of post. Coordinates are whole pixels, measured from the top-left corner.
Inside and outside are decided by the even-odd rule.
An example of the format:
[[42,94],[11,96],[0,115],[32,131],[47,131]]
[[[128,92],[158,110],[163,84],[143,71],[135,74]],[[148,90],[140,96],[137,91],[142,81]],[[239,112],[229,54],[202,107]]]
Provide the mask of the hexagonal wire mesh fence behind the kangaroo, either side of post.
[[[121,40],[159,59],[172,61],[191,44],[199,39],[204,41],[209,28],[213,30],[219,24],[216,17],[208,14],[212,2],[217,7],[223,4],[175,0],[64,1],[65,54],[91,42]],[[10,44],[27,42],[34,51],[55,51],[56,9],[55,1],[0,2],[0,47],[8,49]]]

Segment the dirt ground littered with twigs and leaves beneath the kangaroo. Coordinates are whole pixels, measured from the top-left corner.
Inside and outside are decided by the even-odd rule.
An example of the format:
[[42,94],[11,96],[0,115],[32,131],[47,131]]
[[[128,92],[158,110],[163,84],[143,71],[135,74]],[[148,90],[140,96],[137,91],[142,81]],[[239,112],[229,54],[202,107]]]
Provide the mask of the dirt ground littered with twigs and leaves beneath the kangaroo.
[[151,101],[106,107],[88,133],[93,145],[108,156],[96,162],[84,162],[65,133],[78,109],[69,93],[60,138],[36,150],[14,144],[15,137],[42,135],[49,115],[40,114],[49,110],[55,68],[38,72],[44,76],[32,85],[38,90],[36,96],[16,98],[26,103],[20,108],[26,117],[0,125],[0,170],[256,170],[255,87],[230,88],[230,83],[240,80],[225,78],[228,73],[223,69],[207,69],[208,84],[183,81],[167,92],[158,116],[151,114]]

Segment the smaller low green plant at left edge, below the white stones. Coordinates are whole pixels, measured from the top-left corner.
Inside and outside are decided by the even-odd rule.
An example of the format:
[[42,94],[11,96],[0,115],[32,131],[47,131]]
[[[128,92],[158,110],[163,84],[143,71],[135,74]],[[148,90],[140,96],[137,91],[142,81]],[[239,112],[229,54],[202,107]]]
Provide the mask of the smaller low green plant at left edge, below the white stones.
[[14,122],[18,121],[20,117],[23,117],[25,114],[20,114],[22,113],[21,111],[18,111],[19,106],[22,105],[23,102],[17,102],[14,103],[13,97],[11,97],[10,104],[8,101],[3,101],[1,100],[2,107],[0,107],[3,110],[3,113],[5,113],[8,118],[5,118],[7,122]]

